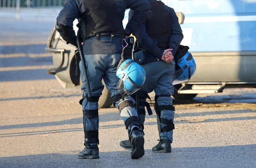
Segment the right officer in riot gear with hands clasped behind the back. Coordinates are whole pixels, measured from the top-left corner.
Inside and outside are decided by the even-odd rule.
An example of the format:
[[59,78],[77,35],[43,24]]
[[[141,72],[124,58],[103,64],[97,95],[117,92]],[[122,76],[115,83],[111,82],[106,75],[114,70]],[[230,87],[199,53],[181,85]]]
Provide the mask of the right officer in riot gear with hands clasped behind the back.
[[[140,29],[134,35],[137,42],[134,48],[134,59],[140,60],[146,73],[144,87],[139,91],[140,108],[138,110],[142,128],[145,122],[145,106],[150,113],[151,109],[146,102],[148,93],[154,90],[155,106],[157,113],[157,126],[159,130],[159,143],[152,148],[154,152],[171,152],[172,133],[174,127],[175,108],[172,106],[173,74],[175,60],[173,56],[183,39],[177,15],[174,9],[157,0],[148,0],[151,11]],[[130,11],[129,18],[132,18]],[[163,56],[164,50],[169,51]],[[139,59],[137,59],[139,57]],[[142,61],[143,60],[143,61]],[[149,97],[150,98],[150,97]],[[131,149],[131,142],[124,140],[120,146]]]

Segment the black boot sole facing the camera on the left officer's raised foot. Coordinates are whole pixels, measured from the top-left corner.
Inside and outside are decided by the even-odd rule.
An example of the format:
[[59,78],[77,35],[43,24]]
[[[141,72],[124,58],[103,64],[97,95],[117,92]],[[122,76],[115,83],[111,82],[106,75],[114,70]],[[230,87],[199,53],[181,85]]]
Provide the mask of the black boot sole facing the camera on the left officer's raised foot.
[[140,136],[140,137],[136,137],[134,139],[134,151],[132,151],[131,153],[131,159],[139,159],[141,157],[143,157],[143,155],[145,154],[144,151],[144,137]]

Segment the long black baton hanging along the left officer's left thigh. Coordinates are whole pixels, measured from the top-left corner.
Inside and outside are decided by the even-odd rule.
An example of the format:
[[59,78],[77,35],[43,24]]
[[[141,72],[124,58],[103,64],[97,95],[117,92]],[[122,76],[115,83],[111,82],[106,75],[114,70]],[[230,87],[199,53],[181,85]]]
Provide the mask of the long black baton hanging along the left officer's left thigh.
[[81,58],[81,63],[82,63],[82,66],[83,66],[83,71],[84,71],[84,77],[85,77],[88,97],[92,97],[92,93],[90,91],[90,83],[89,83],[89,77],[88,77],[88,73],[87,73],[87,68],[86,68],[86,65],[85,65],[85,62],[84,62],[84,54],[83,54],[83,51],[82,51],[83,48],[81,46],[81,40],[80,40],[79,36],[76,37],[76,43],[77,43],[77,46],[78,46],[76,51],[79,51],[80,58]]

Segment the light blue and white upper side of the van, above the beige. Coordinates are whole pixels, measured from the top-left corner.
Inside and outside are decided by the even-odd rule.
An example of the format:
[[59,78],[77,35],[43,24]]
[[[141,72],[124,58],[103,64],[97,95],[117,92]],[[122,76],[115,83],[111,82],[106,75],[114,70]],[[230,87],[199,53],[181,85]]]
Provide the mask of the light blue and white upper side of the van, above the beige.
[[[192,52],[256,51],[256,0],[168,0]],[[192,32],[189,32],[192,31]]]

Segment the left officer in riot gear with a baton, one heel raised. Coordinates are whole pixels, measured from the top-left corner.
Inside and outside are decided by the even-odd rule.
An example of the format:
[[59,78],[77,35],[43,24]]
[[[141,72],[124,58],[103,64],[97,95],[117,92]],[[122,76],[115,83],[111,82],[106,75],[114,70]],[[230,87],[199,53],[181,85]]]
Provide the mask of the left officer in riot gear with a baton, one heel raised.
[[[122,26],[125,9],[132,9],[134,16],[129,20],[126,28]],[[134,33],[145,20],[150,9],[146,0],[68,0],[57,17],[56,30],[68,43],[77,46],[73,21],[79,20],[79,36],[84,42],[83,54],[87,66],[88,78],[92,97],[84,79],[81,61],[79,63],[81,80],[84,91],[80,100],[83,110],[84,145],[85,148],[78,155],[81,159],[99,158],[99,114],[98,101],[104,85],[111,92],[113,105],[119,108],[120,115],[128,129],[132,142],[131,158],[137,159],[144,155],[144,138],[142,128],[134,107],[134,99],[119,94],[116,84],[116,68],[121,59],[123,46],[126,45],[125,36]]]

